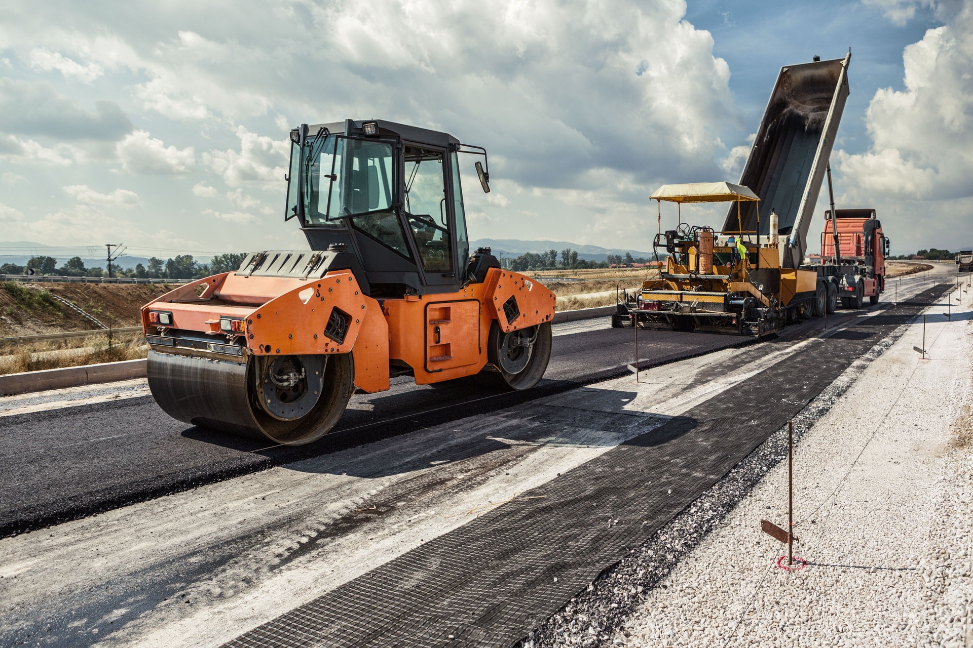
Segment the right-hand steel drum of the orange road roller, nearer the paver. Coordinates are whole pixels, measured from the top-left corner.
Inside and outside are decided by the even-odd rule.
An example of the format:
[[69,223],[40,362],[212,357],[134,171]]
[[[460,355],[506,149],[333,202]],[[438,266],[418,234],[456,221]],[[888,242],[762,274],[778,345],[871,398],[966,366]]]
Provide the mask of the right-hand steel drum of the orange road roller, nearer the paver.
[[529,390],[540,382],[551,359],[551,323],[504,333],[493,323],[489,332],[490,362],[494,374],[512,390]]

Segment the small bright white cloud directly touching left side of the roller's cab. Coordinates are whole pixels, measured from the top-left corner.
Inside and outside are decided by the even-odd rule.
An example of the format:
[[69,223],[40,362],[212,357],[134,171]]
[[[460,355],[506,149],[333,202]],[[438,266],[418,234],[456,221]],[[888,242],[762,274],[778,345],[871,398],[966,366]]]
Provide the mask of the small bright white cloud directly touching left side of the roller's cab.
[[[251,133],[244,126],[236,128],[240,150],[209,151],[203,160],[231,187],[244,183],[282,181],[290,142]],[[281,183],[282,184],[282,183]]]

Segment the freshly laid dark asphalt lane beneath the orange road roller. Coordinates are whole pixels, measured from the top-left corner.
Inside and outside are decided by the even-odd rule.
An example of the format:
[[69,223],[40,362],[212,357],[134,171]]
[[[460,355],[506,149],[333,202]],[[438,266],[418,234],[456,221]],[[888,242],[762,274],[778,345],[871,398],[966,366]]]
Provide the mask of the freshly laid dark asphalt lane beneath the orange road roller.
[[[641,367],[754,341],[674,331],[639,337]],[[268,447],[176,421],[151,396],[6,417],[0,537],[509,407],[623,375],[633,362],[633,329],[611,328],[610,318],[558,324],[538,388],[506,392],[477,378],[418,387],[402,377],[388,392],[354,395],[335,432],[300,447]]]

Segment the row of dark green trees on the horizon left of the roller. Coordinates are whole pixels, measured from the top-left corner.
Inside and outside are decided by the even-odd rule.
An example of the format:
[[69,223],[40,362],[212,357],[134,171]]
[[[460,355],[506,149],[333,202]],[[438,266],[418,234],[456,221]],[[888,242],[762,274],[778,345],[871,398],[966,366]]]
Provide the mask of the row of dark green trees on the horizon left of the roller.
[[[136,263],[133,268],[112,266],[113,277],[131,279],[201,279],[209,275],[230,272],[239,268],[246,256],[244,253],[229,252],[225,255],[213,256],[208,263],[200,263],[193,255],[178,255],[162,260],[155,256],[146,265]],[[39,275],[59,275],[62,277],[107,277],[108,273],[101,266],[86,267],[81,256],[72,256],[57,267],[54,256],[31,256],[26,265],[4,263],[0,265],[0,274],[24,274],[27,268]]]

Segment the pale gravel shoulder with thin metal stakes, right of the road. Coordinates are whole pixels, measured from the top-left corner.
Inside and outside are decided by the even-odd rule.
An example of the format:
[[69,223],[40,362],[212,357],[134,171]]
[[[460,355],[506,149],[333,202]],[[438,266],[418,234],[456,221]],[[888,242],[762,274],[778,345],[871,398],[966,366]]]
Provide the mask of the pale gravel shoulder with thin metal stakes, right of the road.
[[[786,527],[786,462],[778,461],[739,504],[711,493],[692,507],[730,510],[702,541],[708,529],[695,529],[687,510],[639,550],[642,572],[661,576],[644,588],[614,579],[602,608],[618,606],[611,597],[640,604],[608,640],[604,610],[587,601],[561,614],[574,617],[565,631],[537,643],[973,645],[973,289],[958,294],[952,319],[946,298],[927,310],[930,359],[914,350],[919,321],[802,430],[794,518],[805,568],[778,568],[786,548],[760,531],[762,519]],[[767,443],[779,449],[780,435]]]

